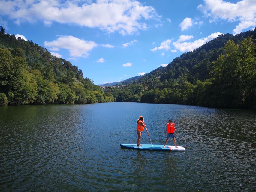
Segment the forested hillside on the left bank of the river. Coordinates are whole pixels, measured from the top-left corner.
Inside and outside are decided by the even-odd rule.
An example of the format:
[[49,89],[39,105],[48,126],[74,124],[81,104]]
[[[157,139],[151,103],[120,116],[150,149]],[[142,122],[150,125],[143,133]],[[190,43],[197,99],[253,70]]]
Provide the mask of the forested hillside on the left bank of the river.
[[47,49],[0,32],[0,105],[114,102],[77,66]]

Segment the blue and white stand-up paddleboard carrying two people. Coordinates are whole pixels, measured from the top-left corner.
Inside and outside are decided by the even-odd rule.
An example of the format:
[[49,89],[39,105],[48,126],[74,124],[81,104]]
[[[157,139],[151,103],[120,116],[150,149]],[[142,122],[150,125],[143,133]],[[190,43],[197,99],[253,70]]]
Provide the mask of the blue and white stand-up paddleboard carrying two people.
[[138,150],[155,150],[155,151],[185,151],[184,147],[177,146],[176,148],[173,145],[150,145],[143,144],[142,146],[137,147],[137,144],[120,144],[121,147],[125,147],[127,149],[138,149]]

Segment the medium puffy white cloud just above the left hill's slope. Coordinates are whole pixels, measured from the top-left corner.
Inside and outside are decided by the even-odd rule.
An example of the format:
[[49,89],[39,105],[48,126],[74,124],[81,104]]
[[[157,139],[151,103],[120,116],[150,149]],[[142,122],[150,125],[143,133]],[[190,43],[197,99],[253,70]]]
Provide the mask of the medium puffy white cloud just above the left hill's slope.
[[91,51],[97,44],[93,41],[85,41],[69,36],[61,36],[54,41],[45,41],[44,46],[50,49],[68,49],[71,57],[88,57]]

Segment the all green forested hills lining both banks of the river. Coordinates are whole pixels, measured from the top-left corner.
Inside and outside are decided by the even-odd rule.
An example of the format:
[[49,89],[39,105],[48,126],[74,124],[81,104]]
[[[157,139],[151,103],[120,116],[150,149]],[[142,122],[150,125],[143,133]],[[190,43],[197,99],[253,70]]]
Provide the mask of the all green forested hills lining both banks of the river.
[[143,102],[256,109],[256,28],[222,34],[117,88],[94,85],[69,61],[0,32],[0,105]]

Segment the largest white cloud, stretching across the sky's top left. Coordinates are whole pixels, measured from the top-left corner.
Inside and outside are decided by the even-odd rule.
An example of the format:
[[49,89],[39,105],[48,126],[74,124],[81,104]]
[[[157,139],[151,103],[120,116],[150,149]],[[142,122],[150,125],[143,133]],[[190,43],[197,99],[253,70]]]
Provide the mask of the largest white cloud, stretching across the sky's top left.
[[46,25],[53,22],[99,28],[109,33],[132,34],[148,28],[149,19],[161,16],[152,6],[133,0],[98,1],[0,1],[0,15],[8,15],[17,24],[42,20]]

